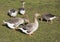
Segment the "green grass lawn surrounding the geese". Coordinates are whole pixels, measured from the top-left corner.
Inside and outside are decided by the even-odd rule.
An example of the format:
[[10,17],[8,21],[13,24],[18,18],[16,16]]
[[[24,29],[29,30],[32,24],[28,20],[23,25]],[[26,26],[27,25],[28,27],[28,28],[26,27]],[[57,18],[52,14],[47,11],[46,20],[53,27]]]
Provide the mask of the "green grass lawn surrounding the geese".
[[[26,14],[32,21],[32,15],[35,12],[44,14],[46,12],[60,16],[60,0],[25,0]],[[53,24],[40,22],[38,30],[32,35],[32,37],[8,29],[6,26],[2,26],[3,20],[7,20],[10,17],[7,15],[7,11],[10,8],[16,10],[21,7],[20,0],[0,0],[0,42],[60,42],[60,19],[54,20]],[[22,17],[17,15],[17,17]]]

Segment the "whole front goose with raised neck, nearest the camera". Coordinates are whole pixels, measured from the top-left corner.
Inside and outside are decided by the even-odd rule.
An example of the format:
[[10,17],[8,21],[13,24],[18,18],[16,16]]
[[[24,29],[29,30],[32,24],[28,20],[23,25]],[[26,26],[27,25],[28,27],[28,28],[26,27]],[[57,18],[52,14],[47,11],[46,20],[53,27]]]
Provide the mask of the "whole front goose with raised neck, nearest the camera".
[[37,17],[39,16],[38,13],[34,14],[34,22],[33,23],[28,23],[27,25],[18,28],[18,30],[21,30],[22,32],[28,34],[31,36],[31,34],[33,34],[33,32],[35,32],[38,29],[38,21],[37,21]]

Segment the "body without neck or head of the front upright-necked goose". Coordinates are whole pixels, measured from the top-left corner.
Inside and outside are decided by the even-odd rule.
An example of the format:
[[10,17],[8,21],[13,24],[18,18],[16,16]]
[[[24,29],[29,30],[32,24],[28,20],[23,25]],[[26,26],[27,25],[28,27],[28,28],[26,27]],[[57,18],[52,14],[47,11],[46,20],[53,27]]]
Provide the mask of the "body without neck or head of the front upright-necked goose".
[[34,23],[27,24],[23,28],[19,28],[26,34],[33,34],[34,31],[38,29],[38,25],[35,25]]

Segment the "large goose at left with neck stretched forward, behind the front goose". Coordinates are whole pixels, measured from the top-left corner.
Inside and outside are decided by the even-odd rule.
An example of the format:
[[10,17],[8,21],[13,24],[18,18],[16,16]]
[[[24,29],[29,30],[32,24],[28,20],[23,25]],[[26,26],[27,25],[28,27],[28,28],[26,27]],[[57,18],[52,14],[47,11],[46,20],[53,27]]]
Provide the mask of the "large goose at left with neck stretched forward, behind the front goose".
[[7,24],[7,26],[11,29],[16,29],[20,24],[23,24],[24,22],[29,22],[27,18],[12,18],[7,21],[3,21],[4,24]]

